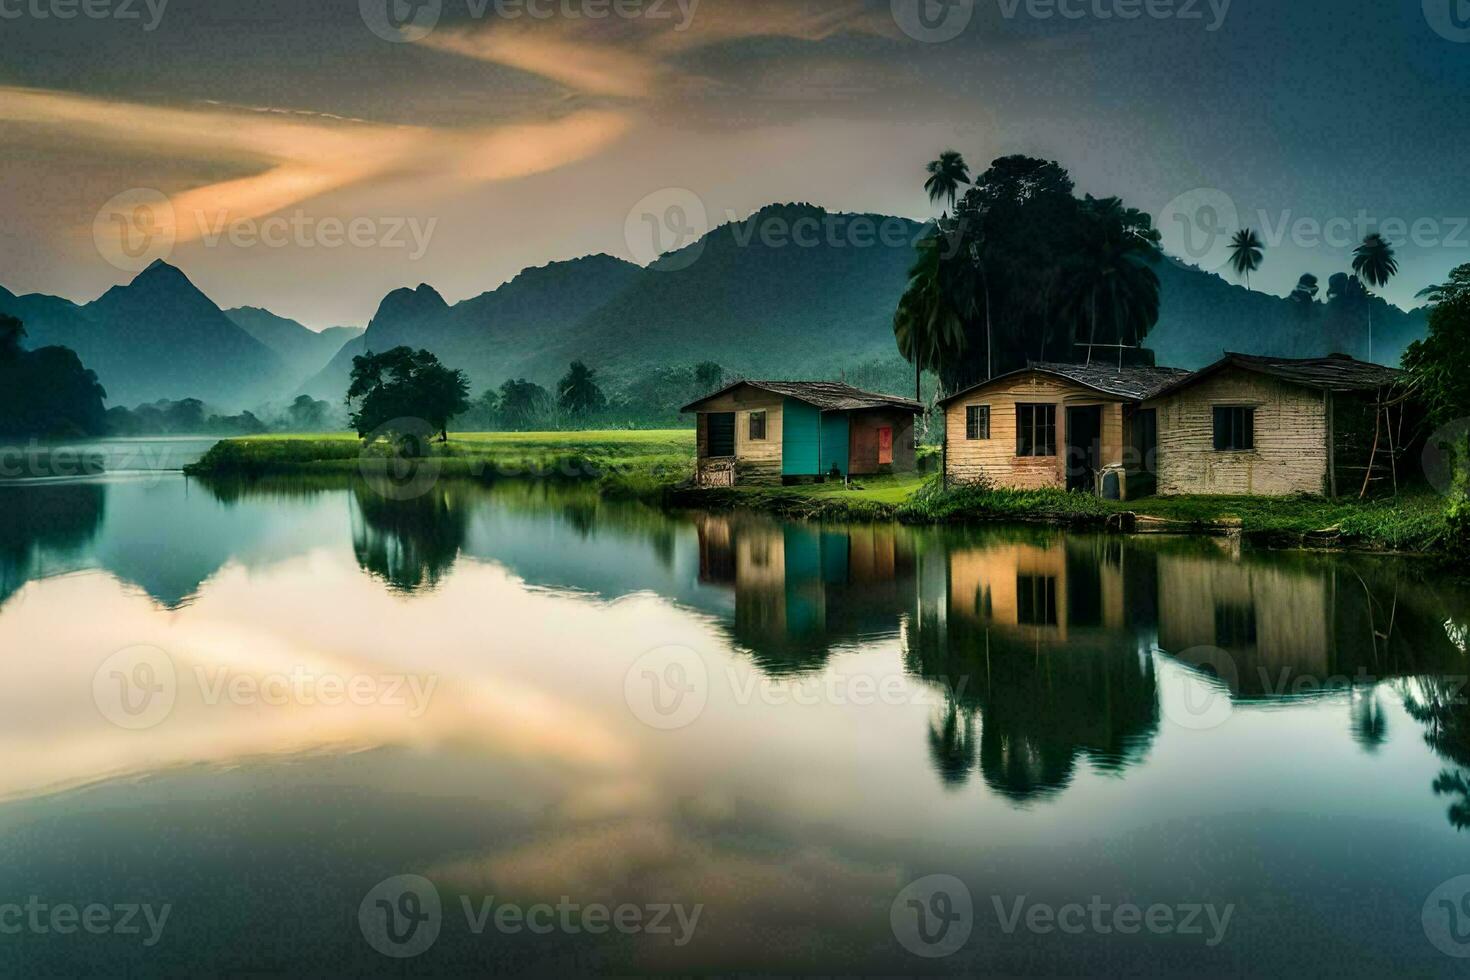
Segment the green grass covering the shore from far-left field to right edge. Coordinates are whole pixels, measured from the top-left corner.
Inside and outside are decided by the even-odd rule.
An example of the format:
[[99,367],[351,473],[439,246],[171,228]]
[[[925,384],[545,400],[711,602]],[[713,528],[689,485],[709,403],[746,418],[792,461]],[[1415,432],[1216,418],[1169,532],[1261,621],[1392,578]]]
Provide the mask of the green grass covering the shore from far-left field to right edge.
[[[188,472],[216,478],[372,473],[390,464],[387,453],[385,444],[365,451],[347,433],[248,436],[219,442]],[[801,519],[1126,529],[1130,519],[1125,516],[1132,514],[1155,530],[1238,532],[1272,545],[1470,554],[1470,516],[1451,517],[1448,501],[1427,489],[1366,502],[1307,497],[1150,497],[1119,502],[1057,489],[945,488],[936,478],[919,473],[854,478],[850,485],[692,489],[694,432],[688,429],[456,433],[447,444],[435,444],[431,454],[438,473],[447,478],[592,480],[609,497],[682,507],[744,507]]]

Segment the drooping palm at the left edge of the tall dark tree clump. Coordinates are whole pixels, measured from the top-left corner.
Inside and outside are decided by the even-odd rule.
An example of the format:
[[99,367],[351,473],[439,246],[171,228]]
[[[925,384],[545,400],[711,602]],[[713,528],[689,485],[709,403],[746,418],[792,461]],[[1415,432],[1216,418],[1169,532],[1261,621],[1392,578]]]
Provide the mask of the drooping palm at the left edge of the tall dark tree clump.
[[963,282],[967,263],[945,259],[947,235],[938,229],[925,235],[917,250],[908,288],[894,313],[894,339],[914,366],[914,400],[923,401],[923,372],[938,372],[964,351],[966,303],[956,281]]

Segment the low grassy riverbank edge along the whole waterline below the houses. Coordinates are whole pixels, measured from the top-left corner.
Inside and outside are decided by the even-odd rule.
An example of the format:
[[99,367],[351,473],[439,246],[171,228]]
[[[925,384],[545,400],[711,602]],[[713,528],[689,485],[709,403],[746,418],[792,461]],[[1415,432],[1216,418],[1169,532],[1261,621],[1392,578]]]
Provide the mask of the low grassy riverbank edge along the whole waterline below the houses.
[[[1320,498],[1145,498],[1102,501],[1061,491],[1008,491],[973,485],[942,486],[936,478],[881,478],[873,486],[833,485],[697,488],[689,483],[692,455],[639,453],[639,438],[607,451],[567,447],[526,453],[537,433],[512,436],[503,447],[467,442],[470,455],[435,455],[435,478],[547,479],[592,483],[612,500],[639,500],[669,510],[745,510],[789,520],[942,525],[1039,525],[1120,535],[1194,535],[1238,538],[1255,547],[1299,551],[1398,554],[1470,567],[1470,550],[1452,547],[1442,498],[1399,501],[1324,501]],[[573,444],[575,445],[575,444]],[[388,460],[365,457],[351,439],[334,441],[326,458],[282,453],[304,450],[291,439],[223,439],[185,475],[204,479],[265,476],[373,476]],[[320,448],[318,444],[315,448]],[[350,448],[350,451],[348,451]],[[666,447],[660,447],[666,448]],[[900,500],[892,500],[900,495]],[[876,497],[876,498],[875,498]]]

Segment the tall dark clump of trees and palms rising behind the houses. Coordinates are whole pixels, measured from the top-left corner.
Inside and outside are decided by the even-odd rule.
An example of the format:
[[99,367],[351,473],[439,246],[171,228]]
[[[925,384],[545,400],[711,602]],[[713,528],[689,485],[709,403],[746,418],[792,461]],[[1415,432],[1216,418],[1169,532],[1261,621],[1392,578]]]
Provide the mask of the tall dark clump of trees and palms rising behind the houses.
[[[948,194],[948,181],[932,184],[942,162],[931,166],[931,195]],[[1075,197],[1054,162],[1001,157],[920,242],[895,341],[948,391],[1033,360],[1086,361],[1102,347],[1151,363],[1142,342],[1158,320],[1158,259],[1147,213]]]

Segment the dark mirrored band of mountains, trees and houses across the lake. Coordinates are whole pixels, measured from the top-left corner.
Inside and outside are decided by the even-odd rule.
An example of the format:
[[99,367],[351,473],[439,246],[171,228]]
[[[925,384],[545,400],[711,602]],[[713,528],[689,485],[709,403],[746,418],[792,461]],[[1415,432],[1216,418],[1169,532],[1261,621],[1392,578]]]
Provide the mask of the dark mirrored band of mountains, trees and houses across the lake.
[[1445,765],[1433,792],[1449,798],[1454,826],[1470,826],[1458,683],[1470,601],[1405,561],[1025,527],[670,516],[544,483],[444,480],[410,500],[338,478],[0,494],[0,608],[29,580],[85,569],[181,610],[231,567],[275,569],[318,550],[345,548],[404,599],[426,599],[466,564],[494,566],[532,591],[659,597],[772,679],[816,677],[891,646],[935,702],[906,738],[956,792],[982,785],[1038,804],[1083,771],[1126,776],[1167,730],[1161,676],[1183,671],[1238,711],[1341,711],[1342,738],[1364,755],[1413,718]]

